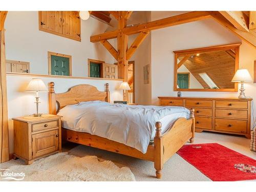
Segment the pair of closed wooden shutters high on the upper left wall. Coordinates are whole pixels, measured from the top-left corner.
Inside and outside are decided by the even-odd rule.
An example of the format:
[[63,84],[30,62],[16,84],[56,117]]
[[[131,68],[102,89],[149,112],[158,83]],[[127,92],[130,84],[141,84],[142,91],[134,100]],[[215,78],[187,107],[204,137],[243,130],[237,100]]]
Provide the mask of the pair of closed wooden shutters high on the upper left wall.
[[81,41],[78,11],[38,11],[39,30]]

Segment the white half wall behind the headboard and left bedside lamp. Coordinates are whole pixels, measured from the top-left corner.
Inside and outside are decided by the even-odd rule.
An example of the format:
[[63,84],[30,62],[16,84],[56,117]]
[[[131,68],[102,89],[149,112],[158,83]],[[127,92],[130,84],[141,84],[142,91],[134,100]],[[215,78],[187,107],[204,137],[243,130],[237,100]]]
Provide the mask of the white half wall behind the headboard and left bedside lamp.
[[[36,112],[35,94],[24,92],[28,83],[34,76],[30,75],[13,75],[7,74],[7,102],[8,102],[8,118],[9,118],[9,144],[10,153],[13,153],[13,122],[11,118],[24,115],[31,115]],[[122,100],[122,91],[118,90],[121,80],[106,79],[71,79],[71,78],[41,78],[46,85],[53,81],[55,83],[55,92],[62,93],[68,91],[69,88],[77,84],[91,84],[97,87],[99,91],[104,91],[104,84],[109,83],[111,102],[114,100]],[[49,113],[48,93],[39,93],[40,102],[39,112]]]

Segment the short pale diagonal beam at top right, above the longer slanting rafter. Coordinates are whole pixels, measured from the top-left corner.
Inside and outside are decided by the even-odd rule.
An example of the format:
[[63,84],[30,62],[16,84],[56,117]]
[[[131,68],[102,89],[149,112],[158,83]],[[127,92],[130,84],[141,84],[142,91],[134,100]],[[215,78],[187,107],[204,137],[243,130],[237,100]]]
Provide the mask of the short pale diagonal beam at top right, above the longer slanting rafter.
[[237,29],[249,31],[249,18],[242,11],[220,11],[220,13]]

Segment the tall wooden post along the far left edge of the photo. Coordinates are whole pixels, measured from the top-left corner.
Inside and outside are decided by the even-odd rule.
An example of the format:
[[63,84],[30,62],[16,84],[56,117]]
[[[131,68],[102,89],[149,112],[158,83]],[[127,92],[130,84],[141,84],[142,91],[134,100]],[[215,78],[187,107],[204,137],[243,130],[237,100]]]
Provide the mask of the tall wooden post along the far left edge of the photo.
[[[2,23],[3,24],[3,23]],[[9,161],[9,132],[7,111],[6,64],[5,64],[5,31],[0,30],[0,162]]]

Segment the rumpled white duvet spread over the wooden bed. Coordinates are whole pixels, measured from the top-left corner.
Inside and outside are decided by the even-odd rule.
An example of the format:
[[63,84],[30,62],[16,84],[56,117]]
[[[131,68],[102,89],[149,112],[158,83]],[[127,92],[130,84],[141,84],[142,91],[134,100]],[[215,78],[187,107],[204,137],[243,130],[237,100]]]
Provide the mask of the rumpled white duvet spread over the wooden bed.
[[80,102],[62,108],[62,127],[86,132],[136,148],[146,153],[155,136],[155,122],[166,132],[179,118],[189,118],[189,110],[180,106],[124,105],[103,101]]

